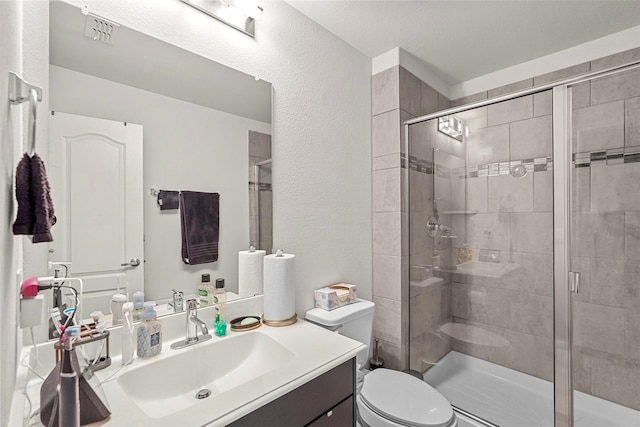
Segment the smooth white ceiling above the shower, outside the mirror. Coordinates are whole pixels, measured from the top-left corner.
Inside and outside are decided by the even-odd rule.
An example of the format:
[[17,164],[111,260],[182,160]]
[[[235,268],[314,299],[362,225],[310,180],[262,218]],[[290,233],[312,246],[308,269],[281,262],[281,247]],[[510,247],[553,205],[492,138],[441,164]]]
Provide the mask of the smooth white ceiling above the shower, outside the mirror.
[[640,1],[287,0],[374,58],[395,47],[453,86],[640,25]]

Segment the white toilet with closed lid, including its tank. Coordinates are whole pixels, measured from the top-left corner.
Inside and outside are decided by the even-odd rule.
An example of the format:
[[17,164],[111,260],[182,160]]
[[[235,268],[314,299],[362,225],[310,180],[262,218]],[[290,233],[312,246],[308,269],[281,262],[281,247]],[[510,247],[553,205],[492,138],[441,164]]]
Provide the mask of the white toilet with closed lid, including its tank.
[[384,368],[364,373],[369,359],[373,310],[371,301],[359,299],[331,311],[314,308],[305,316],[312,323],[367,346],[356,356],[358,422],[370,427],[456,427],[458,422],[451,404],[426,382]]

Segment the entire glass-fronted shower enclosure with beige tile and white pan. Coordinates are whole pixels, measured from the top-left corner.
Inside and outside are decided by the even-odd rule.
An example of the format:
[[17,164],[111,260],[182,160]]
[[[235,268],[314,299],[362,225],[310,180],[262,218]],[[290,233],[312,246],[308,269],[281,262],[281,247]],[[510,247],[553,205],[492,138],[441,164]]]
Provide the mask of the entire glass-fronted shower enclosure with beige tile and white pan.
[[640,66],[405,135],[410,368],[478,425],[640,425]]

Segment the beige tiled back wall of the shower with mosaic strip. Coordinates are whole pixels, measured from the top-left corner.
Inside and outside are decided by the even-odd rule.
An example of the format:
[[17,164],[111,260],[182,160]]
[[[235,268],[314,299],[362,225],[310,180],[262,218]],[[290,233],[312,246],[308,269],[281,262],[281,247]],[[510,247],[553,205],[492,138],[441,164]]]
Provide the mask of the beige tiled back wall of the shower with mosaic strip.
[[[453,104],[638,59],[635,49]],[[572,95],[577,153],[572,269],[582,275],[573,304],[574,385],[640,409],[640,71],[578,84]],[[452,348],[548,380],[553,377],[550,114],[547,91],[459,115],[472,128],[467,208],[478,213],[453,218],[454,229],[475,249],[499,251],[505,269],[450,275],[454,322],[470,326],[468,339],[451,340]],[[529,173],[501,174],[508,171],[508,164],[506,169],[500,164],[505,161],[523,161]]]

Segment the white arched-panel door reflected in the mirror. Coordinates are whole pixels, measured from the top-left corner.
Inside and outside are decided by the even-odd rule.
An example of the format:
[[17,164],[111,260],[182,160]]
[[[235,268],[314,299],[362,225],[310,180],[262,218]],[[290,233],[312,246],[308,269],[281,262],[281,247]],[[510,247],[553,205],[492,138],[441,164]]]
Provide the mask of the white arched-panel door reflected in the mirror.
[[69,263],[61,275],[83,280],[79,315],[109,314],[118,290],[131,297],[144,288],[142,126],[60,112],[49,123],[57,216],[49,261]]

